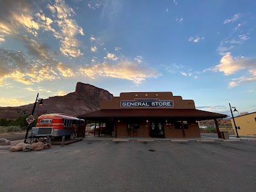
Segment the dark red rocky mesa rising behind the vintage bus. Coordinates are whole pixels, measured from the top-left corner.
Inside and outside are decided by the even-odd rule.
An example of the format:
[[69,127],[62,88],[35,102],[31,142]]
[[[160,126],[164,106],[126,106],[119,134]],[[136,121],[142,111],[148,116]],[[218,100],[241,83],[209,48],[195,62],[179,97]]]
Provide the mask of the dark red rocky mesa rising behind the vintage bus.
[[[91,84],[78,82],[76,91],[65,96],[49,97],[44,99],[44,106],[36,106],[35,117],[46,113],[65,113],[81,115],[100,109],[102,100],[111,100],[113,95],[107,90],[97,88]],[[34,104],[19,107],[0,107],[0,118],[15,119],[31,113]]]

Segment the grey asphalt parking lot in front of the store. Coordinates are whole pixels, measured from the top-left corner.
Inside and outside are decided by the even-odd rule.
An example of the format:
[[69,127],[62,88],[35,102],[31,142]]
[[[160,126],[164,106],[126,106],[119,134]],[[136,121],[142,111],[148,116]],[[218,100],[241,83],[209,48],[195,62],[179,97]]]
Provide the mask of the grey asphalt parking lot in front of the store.
[[255,191],[255,141],[86,141],[0,150],[0,191]]

